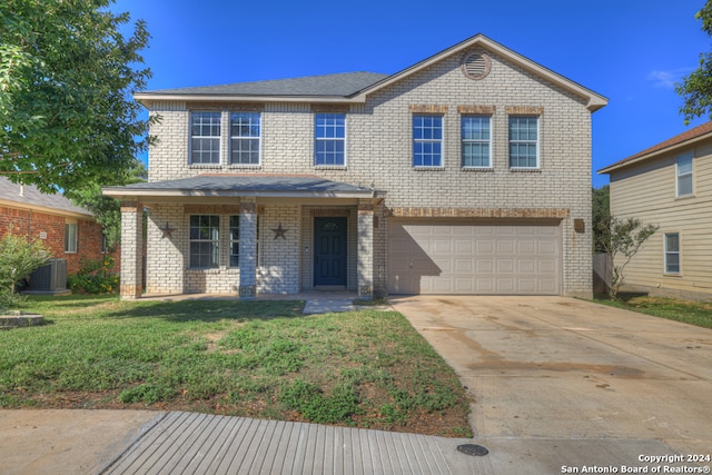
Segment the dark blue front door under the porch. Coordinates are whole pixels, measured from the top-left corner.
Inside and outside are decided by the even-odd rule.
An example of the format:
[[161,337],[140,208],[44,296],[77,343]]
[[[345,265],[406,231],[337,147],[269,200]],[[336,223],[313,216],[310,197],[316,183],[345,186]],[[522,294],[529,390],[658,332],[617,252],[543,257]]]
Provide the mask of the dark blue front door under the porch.
[[314,218],[314,285],[346,285],[346,218]]

